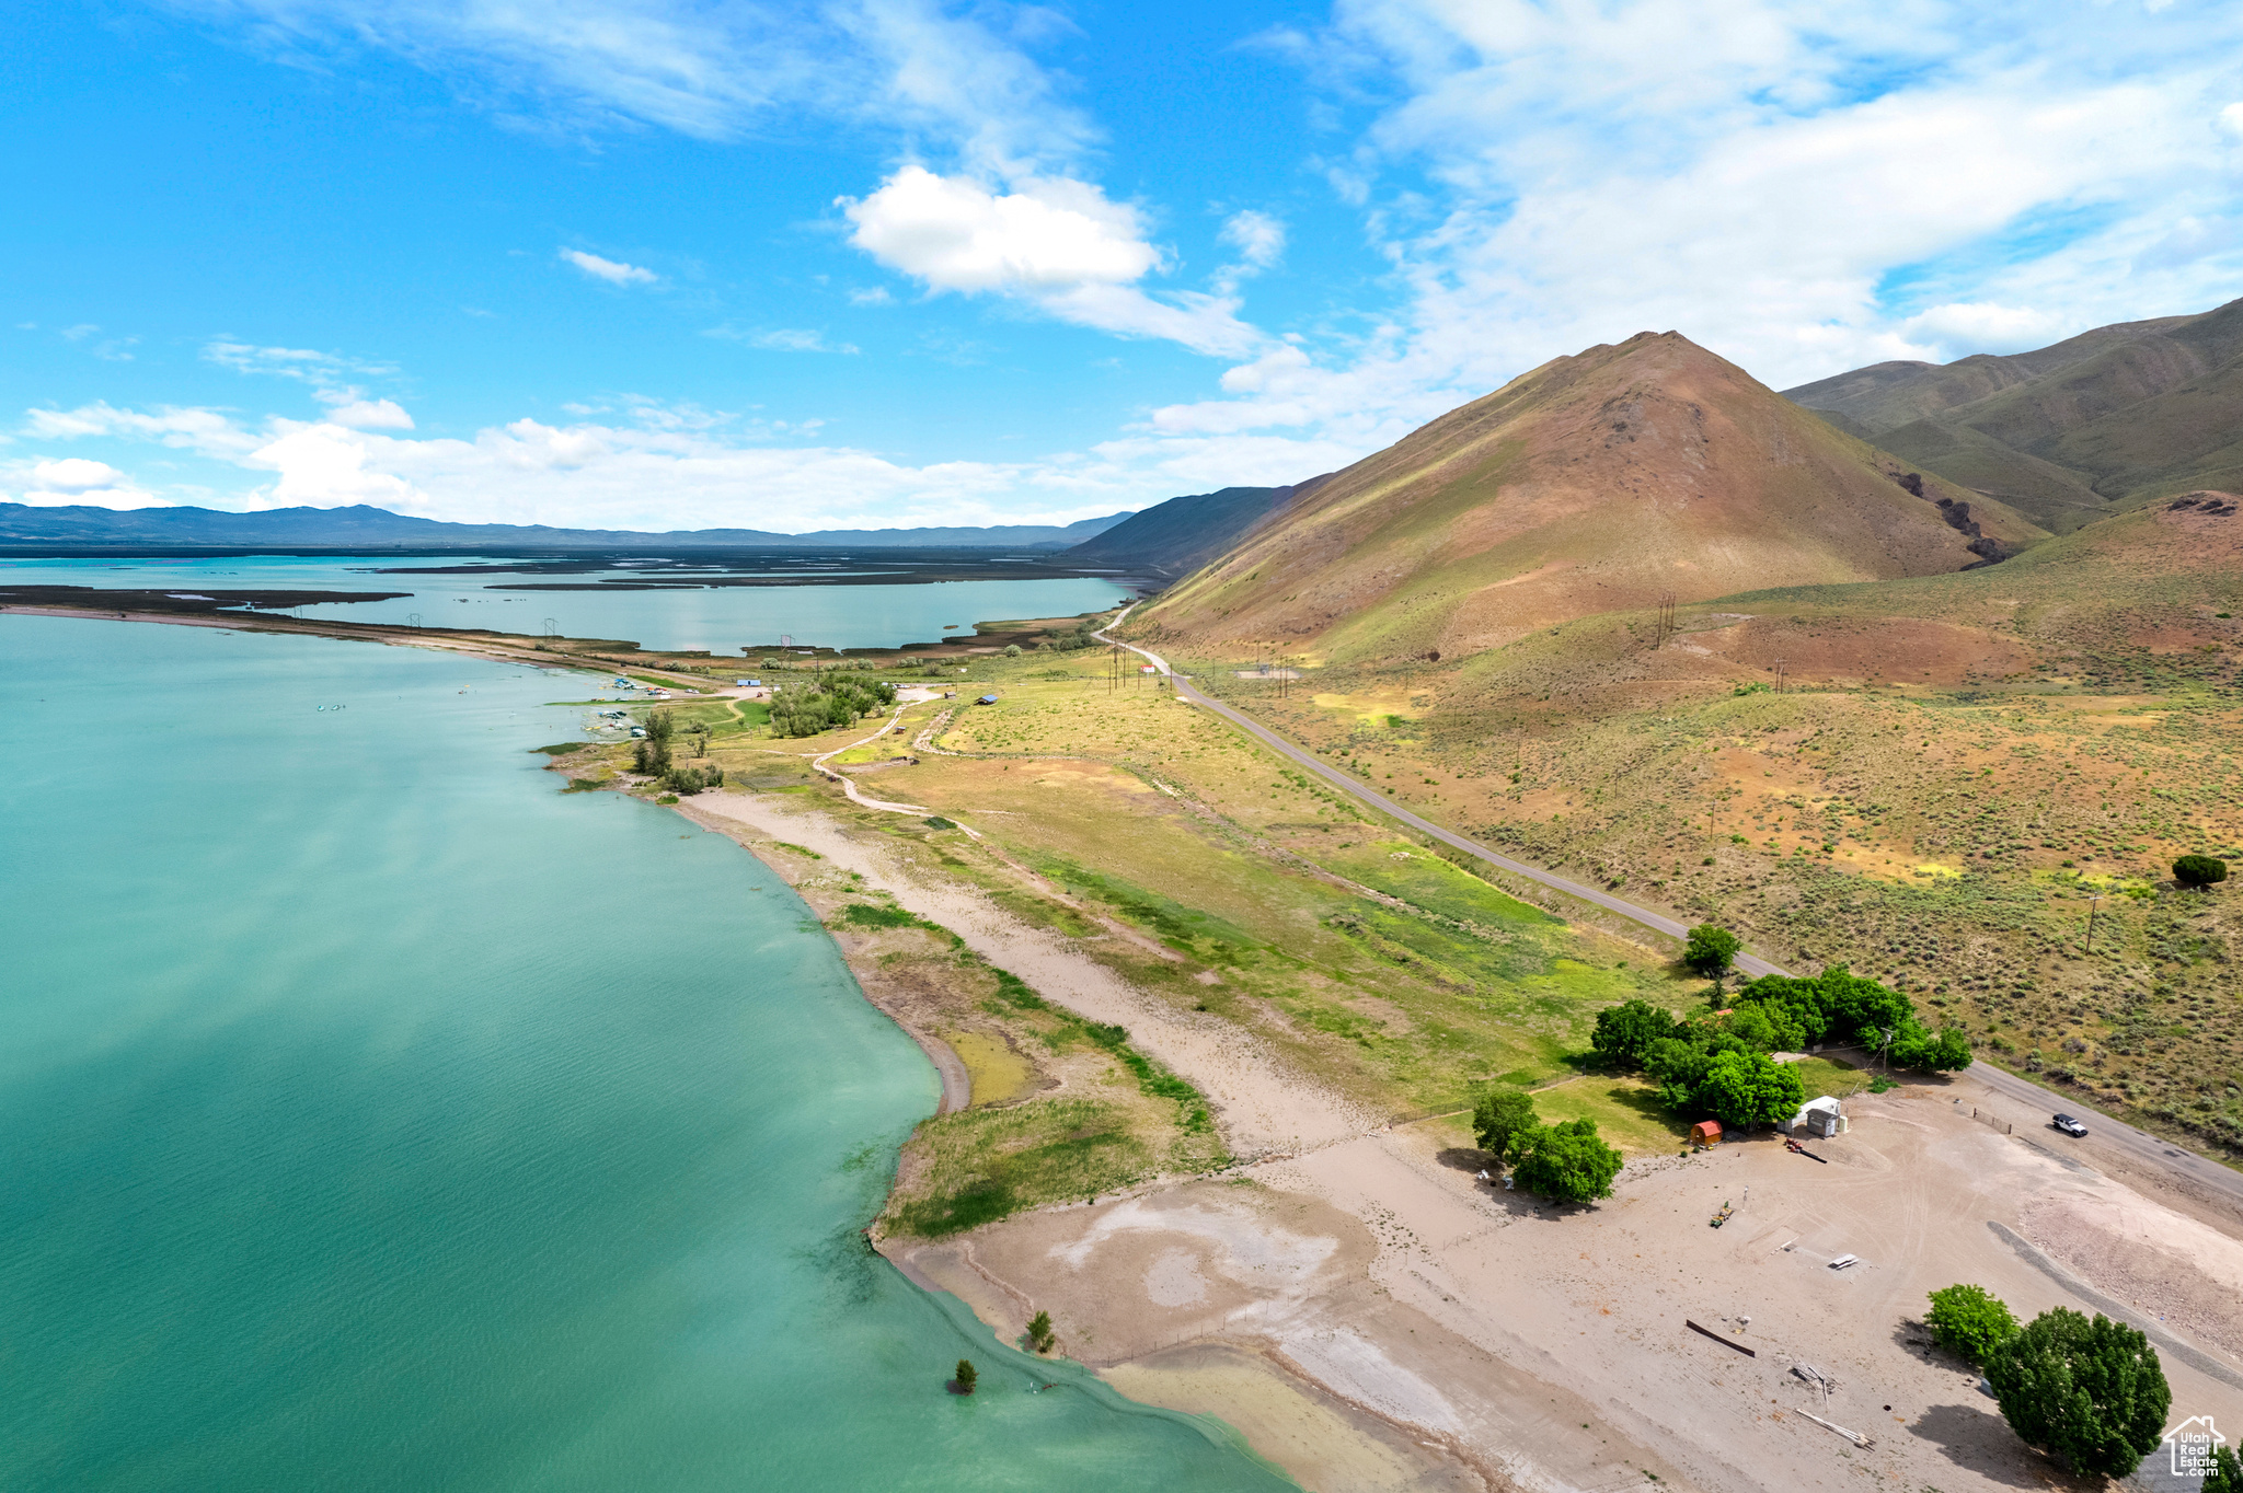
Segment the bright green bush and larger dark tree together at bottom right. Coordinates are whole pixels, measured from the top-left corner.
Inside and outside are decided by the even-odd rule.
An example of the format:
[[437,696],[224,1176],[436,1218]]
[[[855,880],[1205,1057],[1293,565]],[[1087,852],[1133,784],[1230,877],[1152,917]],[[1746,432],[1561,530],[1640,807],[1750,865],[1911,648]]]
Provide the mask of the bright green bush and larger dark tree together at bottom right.
[[[2001,1417],[2025,1444],[2073,1473],[2126,1477],[2158,1450],[2173,1392],[2142,1332],[2052,1307],[2023,1327],[1985,1287],[1931,1293],[1931,1336],[1985,1370]],[[2243,1493],[2243,1468],[2221,1448],[2205,1493]]]

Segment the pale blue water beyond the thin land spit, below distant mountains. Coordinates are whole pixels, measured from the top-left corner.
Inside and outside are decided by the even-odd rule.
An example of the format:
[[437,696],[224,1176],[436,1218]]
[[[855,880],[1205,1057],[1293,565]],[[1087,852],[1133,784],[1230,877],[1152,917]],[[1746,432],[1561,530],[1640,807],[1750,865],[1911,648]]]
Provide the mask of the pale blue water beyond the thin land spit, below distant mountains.
[[[807,556],[805,556],[807,558]],[[877,556],[875,556],[877,558]],[[644,648],[707,648],[738,655],[794,637],[803,648],[895,648],[971,632],[980,621],[1074,616],[1128,601],[1113,581],[931,581],[917,585],[754,585],[648,592],[507,592],[541,581],[599,581],[646,572],[603,569],[572,576],[449,574],[399,576],[393,567],[478,565],[473,556],[227,556],[213,560],[4,558],[0,581],[36,585],[206,590],[413,592],[401,601],[348,601],[301,608],[298,616],[496,628],[563,637],[624,639]],[[953,632],[942,628],[951,623]]]

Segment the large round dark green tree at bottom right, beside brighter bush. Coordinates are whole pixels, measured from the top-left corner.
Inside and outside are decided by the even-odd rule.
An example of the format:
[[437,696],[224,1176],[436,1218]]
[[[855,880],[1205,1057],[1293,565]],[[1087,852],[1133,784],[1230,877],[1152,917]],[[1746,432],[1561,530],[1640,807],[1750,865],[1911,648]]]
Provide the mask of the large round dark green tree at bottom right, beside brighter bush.
[[2028,1446],[2075,1473],[2124,1477],[2158,1448],[2173,1392],[2149,1338],[2050,1307],[1994,1350],[1994,1403]]

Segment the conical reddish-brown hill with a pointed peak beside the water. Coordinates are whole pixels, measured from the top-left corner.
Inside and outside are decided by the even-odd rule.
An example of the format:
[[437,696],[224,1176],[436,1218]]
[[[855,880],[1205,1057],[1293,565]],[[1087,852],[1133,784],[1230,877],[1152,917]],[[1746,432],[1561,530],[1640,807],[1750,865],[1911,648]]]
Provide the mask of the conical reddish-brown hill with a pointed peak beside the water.
[[1453,659],[1664,592],[1956,572],[2039,538],[1689,339],[1642,332],[1332,475],[1144,619],[1213,650]]

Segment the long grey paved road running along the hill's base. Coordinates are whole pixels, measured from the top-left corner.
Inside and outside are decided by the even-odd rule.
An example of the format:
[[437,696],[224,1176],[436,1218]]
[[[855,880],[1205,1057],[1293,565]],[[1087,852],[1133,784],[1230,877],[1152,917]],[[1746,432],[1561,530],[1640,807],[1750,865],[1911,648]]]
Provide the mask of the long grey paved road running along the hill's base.
[[[1128,612],[1130,610],[1124,610],[1122,616],[1115,616],[1113,625],[1119,628],[1122,619],[1126,619]],[[1099,637],[1106,637],[1106,634],[1101,632]],[[1108,639],[1108,641],[1119,643],[1122,639]],[[1122,643],[1122,646],[1128,648],[1135,655],[1142,655],[1144,659],[1151,659],[1153,668],[1157,668],[1162,675],[1166,675],[1169,684],[1175,686],[1175,697],[1178,699],[1189,699],[1193,704],[1207,706],[1209,711],[1222,715],[1225,720],[1236,722],[1243,731],[1247,731],[1254,740],[1263,742],[1272,751],[1290,758],[1292,762],[1299,762],[1301,767],[1305,767],[1308,771],[1317,773],[1319,778],[1323,778],[1332,787],[1337,787],[1337,789],[1341,789],[1346,794],[1353,794],[1355,798],[1362,798],[1368,805],[1375,805],[1375,807],[1384,809],[1386,814],[1400,818],[1411,829],[1418,829],[1422,834],[1431,834],[1442,845],[1453,845],[1456,850],[1462,850],[1467,856],[1476,856],[1480,861],[1487,861],[1489,865],[1501,865],[1503,870],[1507,870],[1507,872],[1512,872],[1516,877],[1525,877],[1530,881],[1539,881],[1539,883],[1543,883],[1548,888],[1557,888],[1559,892],[1566,892],[1568,897],[1579,897],[1581,901],[1590,901],[1590,903],[1595,903],[1595,906],[1599,906],[1599,908],[1604,908],[1608,912],[1617,912],[1619,917],[1637,921],[1644,928],[1653,928],[1653,930],[1664,933],[1669,937],[1682,937],[1687,933],[1687,928],[1682,924],[1678,924],[1671,917],[1662,917],[1662,915],[1653,912],[1651,908],[1637,908],[1635,903],[1622,901],[1619,897],[1613,897],[1610,892],[1602,892],[1602,890],[1597,890],[1593,885],[1581,885],[1579,881],[1566,881],[1563,877],[1554,877],[1554,874],[1541,870],[1539,865],[1525,865],[1523,861],[1512,861],[1510,856],[1498,856],[1496,852],[1487,850],[1485,845],[1474,845],[1465,836],[1451,834],[1449,829],[1442,829],[1440,825],[1436,825],[1436,823],[1431,823],[1427,818],[1420,818],[1418,814],[1411,814],[1409,809],[1404,809],[1402,805],[1397,805],[1386,794],[1379,794],[1375,787],[1370,787],[1366,782],[1357,782],[1355,778],[1350,778],[1348,773],[1339,771],[1337,767],[1330,767],[1328,762],[1319,760],[1317,753],[1305,751],[1301,746],[1294,746],[1285,738],[1276,735],[1274,731],[1270,731],[1261,722],[1252,720],[1249,715],[1240,715],[1238,711],[1234,711],[1231,706],[1222,704],[1220,699],[1209,699],[1204,693],[1200,693],[1198,688],[1193,688],[1193,684],[1189,679],[1184,679],[1173,668],[1169,668],[1169,661],[1162,659],[1160,655],[1148,652],[1144,648],[1137,648],[1135,643]],[[1741,953],[1736,957],[1736,966],[1741,971],[1745,971],[1747,975],[1788,975],[1790,973],[1785,968],[1779,968],[1779,966],[1770,964],[1767,959],[1761,959],[1759,955],[1745,955],[1745,953]],[[2082,1107],[2077,1098],[2066,1101],[2061,1094],[2043,1089],[2041,1085],[2032,1083],[2030,1078],[2019,1078],[2016,1074],[1999,1069],[1999,1067],[1994,1067],[1990,1063],[1972,1063],[1969,1065],[1969,1078],[1976,1078],[1978,1083],[1983,1083],[1985,1087],[1994,1089],[2003,1098],[2012,1098],[2012,1101],[2025,1105],[2025,1114],[2021,1114],[2019,1119],[2028,1121],[2028,1128],[2030,1125],[2046,1125],[2043,1116],[2057,1114],[2059,1110],[2066,1110],[2066,1107],[2079,1110]],[[2243,1172],[2225,1168],[2218,1161],[2212,1161],[2207,1157],[2198,1157],[2196,1152],[2182,1150],[2178,1146],[2173,1146],[2171,1141],[2162,1141],[2162,1139],[2149,1134],[2147,1130],[2135,1130],[2133,1125],[2124,1125],[2124,1123],[2120,1123],[2120,1121],[2115,1121],[2115,1119],[2111,1119],[2106,1114],[2086,1114],[2082,1119],[2095,1132],[2095,1139],[2099,1139],[2102,1143],[2111,1146],[2113,1150],[2126,1154],[2131,1161],[2138,1161],[2142,1166],[2164,1168],[2169,1172],[2187,1177],[2189,1181],[2196,1181],[2198,1186],[2212,1190],[2214,1195],[2230,1197],[2230,1199],[2243,1204]],[[2048,1137],[2050,1137],[2050,1143],[2068,1139],[2064,1134],[2057,1134],[2055,1130],[2050,1130]]]

